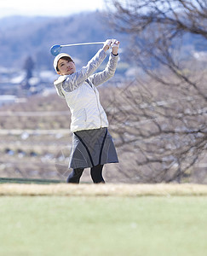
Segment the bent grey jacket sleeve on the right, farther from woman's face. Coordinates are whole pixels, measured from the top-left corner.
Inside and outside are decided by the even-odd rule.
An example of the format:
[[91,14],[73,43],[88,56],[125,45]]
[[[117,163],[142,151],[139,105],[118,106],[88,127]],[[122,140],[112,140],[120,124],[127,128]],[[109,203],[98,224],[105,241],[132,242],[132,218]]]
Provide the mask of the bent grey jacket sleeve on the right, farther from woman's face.
[[118,64],[118,55],[111,55],[109,56],[109,61],[106,65],[106,68],[100,72],[95,73],[94,75],[91,75],[89,77],[89,81],[94,84],[95,86],[98,86],[100,84],[103,84],[108,79],[111,79],[116,71]]

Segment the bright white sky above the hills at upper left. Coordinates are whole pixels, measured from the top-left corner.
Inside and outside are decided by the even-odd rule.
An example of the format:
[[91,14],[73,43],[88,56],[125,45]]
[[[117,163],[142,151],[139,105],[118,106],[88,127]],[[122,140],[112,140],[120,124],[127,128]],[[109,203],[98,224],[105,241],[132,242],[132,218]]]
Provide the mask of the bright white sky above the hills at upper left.
[[66,16],[103,9],[104,0],[0,0],[0,18],[11,15]]

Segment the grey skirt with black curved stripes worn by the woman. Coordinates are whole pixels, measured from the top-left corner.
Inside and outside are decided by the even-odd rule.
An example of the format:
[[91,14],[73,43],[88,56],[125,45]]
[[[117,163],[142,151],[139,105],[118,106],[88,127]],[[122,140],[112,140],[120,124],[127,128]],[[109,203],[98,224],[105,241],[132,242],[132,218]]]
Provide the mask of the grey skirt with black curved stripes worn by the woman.
[[106,163],[118,163],[112,136],[106,127],[73,133],[69,168],[88,168]]

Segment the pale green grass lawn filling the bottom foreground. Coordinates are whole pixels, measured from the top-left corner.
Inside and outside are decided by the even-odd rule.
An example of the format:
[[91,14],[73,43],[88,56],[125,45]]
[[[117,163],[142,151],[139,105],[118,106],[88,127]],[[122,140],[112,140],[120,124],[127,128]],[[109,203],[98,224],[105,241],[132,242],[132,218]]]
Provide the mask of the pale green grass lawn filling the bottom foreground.
[[206,196],[2,196],[0,255],[201,256]]

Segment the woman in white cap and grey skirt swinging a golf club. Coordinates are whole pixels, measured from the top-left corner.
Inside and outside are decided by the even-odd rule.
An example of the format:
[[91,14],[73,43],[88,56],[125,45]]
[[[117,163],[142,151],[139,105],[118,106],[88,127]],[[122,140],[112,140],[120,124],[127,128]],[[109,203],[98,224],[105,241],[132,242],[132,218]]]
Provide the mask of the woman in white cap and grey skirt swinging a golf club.
[[[95,73],[106,58],[106,51],[111,47],[112,53],[106,68]],[[105,183],[102,177],[104,164],[118,162],[112,137],[107,131],[106,113],[95,87],[114,75],[118,63],[118,48],[117,40],[106,40],[103,48],[78,72],[70,55],[62,53],[55,57],[55,71],[60,75],[54,83],[55,88],[58,95],[65,98],[72,113],[73,137],[69,168],[73,170],[67,183],[79,183],[83,170],[87,167],[90,167],[94,183]]]

